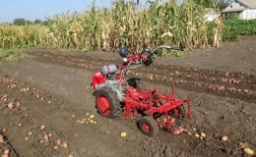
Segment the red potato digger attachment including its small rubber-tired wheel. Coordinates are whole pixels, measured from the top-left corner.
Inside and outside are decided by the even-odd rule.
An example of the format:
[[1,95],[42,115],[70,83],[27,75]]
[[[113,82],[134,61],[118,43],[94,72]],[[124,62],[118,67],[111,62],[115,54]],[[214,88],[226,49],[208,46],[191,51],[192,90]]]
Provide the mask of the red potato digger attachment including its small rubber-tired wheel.
[[[122,102],[125,104],[123,112],[126,119],[131,113],[134,119],[138,112],[146,115],[139,120],[138,126],[144,134],[149,136],[157,134],[160,129],[172,132],[176,119],[191,117],[189,100],[176,99],[174,85],[172,85],[171,97],[160,94],[157,88],[150,90],[128,88]],[[187,113],[184,105],[188,109]]]

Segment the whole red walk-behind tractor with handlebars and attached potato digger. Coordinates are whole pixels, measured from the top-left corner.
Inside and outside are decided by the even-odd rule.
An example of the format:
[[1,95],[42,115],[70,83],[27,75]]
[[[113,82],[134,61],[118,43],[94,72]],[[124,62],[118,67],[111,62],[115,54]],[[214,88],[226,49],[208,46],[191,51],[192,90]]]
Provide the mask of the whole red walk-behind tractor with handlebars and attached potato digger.
[[153,63],[153,54],[160,48],[177,49],[160,46],[153,51],[144,49],[129,55],[128,49],[121,47],[119,55],[123,57],[123,65],[121,67],[115,64],[103,66],[93,76],[96,109],[101,116],[114,119],[123,112],[126,119],[131,114],[136,119],[137,115],[140,115],[138,127],[148,136],[157,134],[160,129],[172,132],[176,127],[174,122],[177,119],[191,117],[189,100],[177,99],[174,85],[172,85],[172,95],[168,96],[160,94],[157,88],[145,89],[140,78],[124,79],[126,70],[150,66]]

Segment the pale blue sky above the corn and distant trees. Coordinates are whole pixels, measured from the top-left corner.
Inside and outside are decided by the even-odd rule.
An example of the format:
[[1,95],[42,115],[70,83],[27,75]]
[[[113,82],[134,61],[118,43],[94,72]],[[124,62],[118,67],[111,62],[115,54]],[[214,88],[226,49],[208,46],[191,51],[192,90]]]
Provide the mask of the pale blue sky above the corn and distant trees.
[[[146,0],[140,0],[145,4]],[[57,14],[89,10],[93,0],[0,0],[0,23],[13,23],[17,18],[33,22]],[[98,7],[110,7],[111,0],[96,0]]]

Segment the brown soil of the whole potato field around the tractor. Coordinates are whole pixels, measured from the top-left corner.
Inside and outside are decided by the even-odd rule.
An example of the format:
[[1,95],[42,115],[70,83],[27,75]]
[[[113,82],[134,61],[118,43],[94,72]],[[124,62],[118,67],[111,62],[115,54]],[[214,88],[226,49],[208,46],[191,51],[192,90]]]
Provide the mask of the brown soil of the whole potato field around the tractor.
[[[162,93],[169,93],[175,83],[178,97],[191,101],[192,119],[182,126],[197,131],[193,135],[160,131],[155,137],[143,135],[136,120],[108,120],[96,113],[91,77],[102,65],[121,64],[116,54],[28,49],[32,60],[0,67],[0,134],[4,136],[0,154],[9,149],[10,156],[26,157],[246,156],[239,142],[256,148],[255,40],[256,36],[248,36],[221,48],[164,57],[149,68],[129,71],[127,78],[142,78]],[[92,114],[96,124],[88,121]],[[89,124],[78,123],[83,119]],[[127,136],[120,137],[121,131]],[[194,134],[202,131],[207,136],[201,140]],[[227,142],[220,140],[224,134]]]

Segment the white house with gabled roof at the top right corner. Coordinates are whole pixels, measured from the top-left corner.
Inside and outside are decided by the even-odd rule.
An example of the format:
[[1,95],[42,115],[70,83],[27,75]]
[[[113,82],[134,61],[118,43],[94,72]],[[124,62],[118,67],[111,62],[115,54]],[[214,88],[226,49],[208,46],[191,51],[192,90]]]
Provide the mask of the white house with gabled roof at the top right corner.
[[256,19],[256,0],[235,0],[222,13],[224,17],[237,13],[241,20]]

